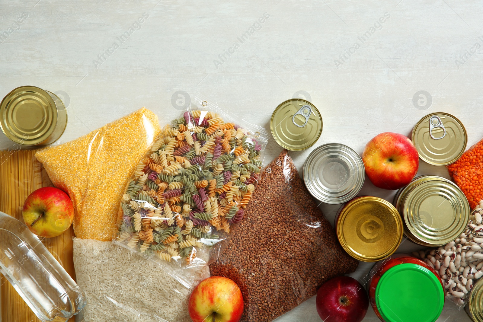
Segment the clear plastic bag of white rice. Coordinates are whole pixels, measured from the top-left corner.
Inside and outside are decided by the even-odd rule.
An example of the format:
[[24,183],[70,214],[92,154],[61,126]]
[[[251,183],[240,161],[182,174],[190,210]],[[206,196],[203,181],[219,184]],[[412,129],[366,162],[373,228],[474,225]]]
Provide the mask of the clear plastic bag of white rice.
[[[155,263],[111,242],[74,238],[77,284],[87,305],[77,322],[189,322],[185,288]],[[197,281],[210,276],[207,267]]]

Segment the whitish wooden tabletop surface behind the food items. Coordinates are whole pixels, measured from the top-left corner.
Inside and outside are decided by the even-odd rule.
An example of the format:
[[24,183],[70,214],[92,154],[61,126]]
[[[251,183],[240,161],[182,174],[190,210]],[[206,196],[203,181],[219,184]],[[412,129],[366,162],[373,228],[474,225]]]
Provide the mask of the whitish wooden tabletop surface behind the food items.
[[[340,142],[362,153],[376,134],[409,135],[422,116],[438,111],[462,120],[470,146],[483,137],[482,14],[483,2],[469,0],[0,0],[0,31],[7,31],[0,97],[21,85],[63,96],[69,121],[59,142],[142,106],[166,122],[180,113],[171,97],[182,90],[204,93],[267,129],[280,102],[305,93],[324,119],[315,146]],[[125,31],[121,43],[116,37]],[[414,105],[418,91],[432,103]],[[0,148],[11,147],[1,135]],[[313,148],[291,153],[299,169]],[[270,139],[266,161],[281,150]],[[419,174],[428,173],[448,177],[446,168],[421,162]],[[361,194],[394,195],[368,182]],[[333,221],[338,206],[321,208]],[[370,266],[361,264],[354,276],[363,278]],[[321,321],[314,303],[277,321]],[[370,308],[364,321],[378,321]],[[438,321],[470,320],[446,303]]]

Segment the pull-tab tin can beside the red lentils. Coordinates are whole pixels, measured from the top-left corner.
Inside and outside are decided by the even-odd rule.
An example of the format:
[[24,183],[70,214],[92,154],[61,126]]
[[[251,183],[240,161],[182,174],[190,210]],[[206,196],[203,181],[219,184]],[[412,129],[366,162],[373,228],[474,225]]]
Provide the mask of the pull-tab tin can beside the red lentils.
[[428,114],[412,129],[412,143],[419,157],[435,166],[446,166],[459,159],[467,141],[465,126],[448,113]]

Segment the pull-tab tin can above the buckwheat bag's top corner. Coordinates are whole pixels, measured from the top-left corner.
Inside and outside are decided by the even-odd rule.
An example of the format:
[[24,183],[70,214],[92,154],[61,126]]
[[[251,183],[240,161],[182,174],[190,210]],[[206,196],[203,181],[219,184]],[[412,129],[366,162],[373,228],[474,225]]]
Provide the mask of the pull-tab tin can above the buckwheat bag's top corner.
[[305,150],[319,139],[322,133],[322,116],[305,99],[287,99],[273,111],[270,131],[283,148],[290,151]]

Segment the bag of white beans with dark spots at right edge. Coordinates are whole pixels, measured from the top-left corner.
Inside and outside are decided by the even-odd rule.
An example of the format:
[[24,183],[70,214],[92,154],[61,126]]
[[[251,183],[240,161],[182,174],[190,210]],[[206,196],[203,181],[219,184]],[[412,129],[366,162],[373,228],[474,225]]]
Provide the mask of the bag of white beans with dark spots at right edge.
[[458,309],[468,302],[469,291],[483,276],[483,200],[469,216],[466,229],[459,238],[439,248],[413,252],[440,275],[446,298]]

